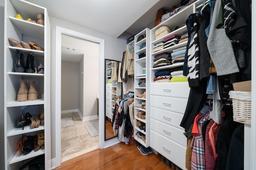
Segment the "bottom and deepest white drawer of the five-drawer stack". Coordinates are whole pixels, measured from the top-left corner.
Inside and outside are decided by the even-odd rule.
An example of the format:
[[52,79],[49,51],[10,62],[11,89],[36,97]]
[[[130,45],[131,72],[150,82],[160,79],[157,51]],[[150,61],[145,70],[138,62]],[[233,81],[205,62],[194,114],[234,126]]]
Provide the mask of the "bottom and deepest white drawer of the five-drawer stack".
[[183,170],[186,169],[186,147],[150,130],[150,147]]

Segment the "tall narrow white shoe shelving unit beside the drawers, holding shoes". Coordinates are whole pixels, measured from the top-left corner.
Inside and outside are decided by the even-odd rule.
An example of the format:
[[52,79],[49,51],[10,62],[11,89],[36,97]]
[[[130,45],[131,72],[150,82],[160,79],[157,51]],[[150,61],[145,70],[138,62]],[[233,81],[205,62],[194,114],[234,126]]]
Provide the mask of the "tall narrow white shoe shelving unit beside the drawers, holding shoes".
[[[145,35],[146,38],[138,41],[138,37]],[[148,147],[150,144],[150,103],[149,103],[149,95],[150,95],[150,88],[149,88],[149,82],[150,82],[150,29],[146,28],[142,30],[140,33],[138,33],[134,37],[134,139],[137,140],[140,144],[144,145],[145,147]],[[142,49],[141,45],[143,43],[146,43],[146,46]],[[146,53],[145,57],[140,57],[140,54]],[[143,73],[143,69],[146,69]],[[140,87],[139,83],[141,80],[145,80],[146,87]],[[143,94],[144,91],[146,92],[146,98],[144,97],[136,97],[136,93]],[[142,102],[146,103],[146,109],[136,107],[136,104],[141,104]],[[146,112],[146,119],[140,119],[137,117],[137,113],[139,111],[145,111]],[[140,121],[146,125],[146,130],[141,130],[137,125],[136,122]],[[142,132],[146,135],[146,143],[141,139],[137,137],[137,132]]]

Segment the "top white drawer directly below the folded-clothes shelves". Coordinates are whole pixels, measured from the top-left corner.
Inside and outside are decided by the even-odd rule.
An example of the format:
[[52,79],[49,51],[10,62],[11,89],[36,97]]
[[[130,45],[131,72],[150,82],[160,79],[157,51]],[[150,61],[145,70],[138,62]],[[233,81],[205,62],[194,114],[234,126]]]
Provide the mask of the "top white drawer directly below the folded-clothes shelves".
[[188,98],[190,87],[188,82],[151,83],[150,94],[170,97]]

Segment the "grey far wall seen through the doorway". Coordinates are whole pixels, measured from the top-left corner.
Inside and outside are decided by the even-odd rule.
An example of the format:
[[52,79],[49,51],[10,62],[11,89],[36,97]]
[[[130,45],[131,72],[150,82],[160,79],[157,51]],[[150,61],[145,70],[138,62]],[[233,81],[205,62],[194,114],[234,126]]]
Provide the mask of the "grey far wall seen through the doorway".
[[61,111],[78,109],[78,74],[78,63],[61,61]]

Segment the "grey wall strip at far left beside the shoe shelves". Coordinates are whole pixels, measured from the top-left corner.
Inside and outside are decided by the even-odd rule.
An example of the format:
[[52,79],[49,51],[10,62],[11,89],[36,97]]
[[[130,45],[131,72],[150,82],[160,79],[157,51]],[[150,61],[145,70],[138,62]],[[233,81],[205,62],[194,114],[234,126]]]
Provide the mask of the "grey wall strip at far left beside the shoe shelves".
[[4,0],[0,0],[0,169],[4,169]]

